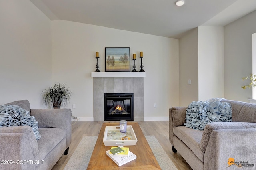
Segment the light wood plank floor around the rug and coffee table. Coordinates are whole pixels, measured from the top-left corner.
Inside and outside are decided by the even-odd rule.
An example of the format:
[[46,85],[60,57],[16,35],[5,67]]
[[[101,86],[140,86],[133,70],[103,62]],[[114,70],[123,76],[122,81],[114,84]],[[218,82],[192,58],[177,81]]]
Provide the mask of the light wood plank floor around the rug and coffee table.
[[[69,153],[68,155],[62,155],[52,170],[63,170],[82,136],[98,136],[102,123],[76,122],[72,125],[72,142],[69,147]],[[192,170],[178,152],[176,154],[172,152],[172,145],[169,142],[169,121],[139,121],[138,123],[145,136],[154,135],[157,138],[178,170]]]

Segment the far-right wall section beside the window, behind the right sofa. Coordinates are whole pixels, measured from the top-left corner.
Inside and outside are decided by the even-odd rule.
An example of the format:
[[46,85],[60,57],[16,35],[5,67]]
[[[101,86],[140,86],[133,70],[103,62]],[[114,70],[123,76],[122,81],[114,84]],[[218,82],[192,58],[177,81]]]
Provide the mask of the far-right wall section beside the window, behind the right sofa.
[[256,11],[224,26],[225,98],[249,102],[252,89],[242,89],[242,77],[252,73],[252,34]]

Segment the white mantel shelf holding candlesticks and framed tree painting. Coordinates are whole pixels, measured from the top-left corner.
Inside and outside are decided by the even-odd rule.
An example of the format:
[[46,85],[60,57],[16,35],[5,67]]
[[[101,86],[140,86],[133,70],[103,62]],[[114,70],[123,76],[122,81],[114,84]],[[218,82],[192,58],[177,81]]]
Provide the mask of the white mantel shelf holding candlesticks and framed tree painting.
[[92,72],[92,77],[146,77],[146,72]]

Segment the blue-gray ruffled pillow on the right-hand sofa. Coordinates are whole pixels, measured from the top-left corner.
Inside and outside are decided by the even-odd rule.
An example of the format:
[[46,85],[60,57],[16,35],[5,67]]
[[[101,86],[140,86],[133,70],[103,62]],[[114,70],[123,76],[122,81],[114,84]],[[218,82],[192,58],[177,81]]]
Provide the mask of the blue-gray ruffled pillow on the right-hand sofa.
[[196,130],[204,130],[210,122],[231,122],[232,108],[228,102],[193,101],[186,109],[186,123],[184,125]]

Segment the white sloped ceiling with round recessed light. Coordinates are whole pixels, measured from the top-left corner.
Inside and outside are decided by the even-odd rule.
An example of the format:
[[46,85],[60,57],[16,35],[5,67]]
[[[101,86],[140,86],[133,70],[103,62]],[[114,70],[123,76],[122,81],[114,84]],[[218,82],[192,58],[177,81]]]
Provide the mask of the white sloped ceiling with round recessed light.
[[170,38],[198,26],[225,26],[256,0],[30,0],[50,20],[68,20]]

